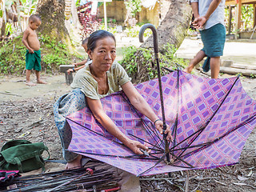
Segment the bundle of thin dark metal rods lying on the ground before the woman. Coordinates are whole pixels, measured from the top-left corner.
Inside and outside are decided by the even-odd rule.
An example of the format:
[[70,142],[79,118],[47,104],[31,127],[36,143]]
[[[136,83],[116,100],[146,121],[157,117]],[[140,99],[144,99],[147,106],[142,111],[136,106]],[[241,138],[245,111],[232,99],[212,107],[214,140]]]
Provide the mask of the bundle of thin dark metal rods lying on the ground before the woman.
[[6,191],[116,191],[119,178],[109,169],[105,163],[90,162],[79,169],[28,175],[16,178],[17,188]]

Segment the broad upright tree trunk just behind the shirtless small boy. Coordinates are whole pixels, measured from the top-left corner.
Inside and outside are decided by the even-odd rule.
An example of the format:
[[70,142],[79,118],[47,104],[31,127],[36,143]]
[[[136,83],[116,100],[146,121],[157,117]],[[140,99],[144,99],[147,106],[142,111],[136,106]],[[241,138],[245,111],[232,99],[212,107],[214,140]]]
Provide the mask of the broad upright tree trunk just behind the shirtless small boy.
[[42,24],[38,32],[50,39],[55,38],[65,43],[69,50],[73,50],[70,35],[65,26],[64,10],[65,0],[39,0],[37,12],[42,18]]

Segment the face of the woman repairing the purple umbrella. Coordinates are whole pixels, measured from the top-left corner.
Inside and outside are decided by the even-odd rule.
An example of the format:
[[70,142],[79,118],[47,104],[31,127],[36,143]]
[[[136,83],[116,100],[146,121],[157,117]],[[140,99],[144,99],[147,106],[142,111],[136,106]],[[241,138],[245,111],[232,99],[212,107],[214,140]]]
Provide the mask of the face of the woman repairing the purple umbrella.
[[106,37],[96,42],[94,51],[88,50],[92,65],[102,71],[110,70],[116,58],[116,48],[113,38]]

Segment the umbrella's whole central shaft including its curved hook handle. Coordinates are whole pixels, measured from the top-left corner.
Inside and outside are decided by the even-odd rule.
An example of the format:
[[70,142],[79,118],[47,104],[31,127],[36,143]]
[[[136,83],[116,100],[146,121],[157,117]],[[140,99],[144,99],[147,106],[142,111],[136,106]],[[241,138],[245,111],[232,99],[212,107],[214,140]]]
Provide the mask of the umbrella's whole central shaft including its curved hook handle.
[[157,67],[158,67],[158,86],[159,86],[159,92],[160,92],[160,101],[161,101],[161,108],[162,108],[162,123],[163,123],[163,140],[165,142],[165,153],[166,153],[166,161],[170,162],[170,155],[169,155],[169,142],[166,139],[166,115],[165,115],[165,108],[164,108],[164,103],[163,103],[163,96],[162,96],[162,79],[161,79],[161,70],[160,70],[160,65],[159,65],[159,50],[158,50],[158,33],[156,28],[150,24],[147,23],[145,25],[142,26],[141,30],[139,31],[138,34],[138,38],[140,42],[144,42],[143,41],[143,34],[145,32],[145,30],[149,28],[150,30],[152,30],[153,32],[153,41],[154,41],[154,55],[155,55],[155,59],[157,62]]

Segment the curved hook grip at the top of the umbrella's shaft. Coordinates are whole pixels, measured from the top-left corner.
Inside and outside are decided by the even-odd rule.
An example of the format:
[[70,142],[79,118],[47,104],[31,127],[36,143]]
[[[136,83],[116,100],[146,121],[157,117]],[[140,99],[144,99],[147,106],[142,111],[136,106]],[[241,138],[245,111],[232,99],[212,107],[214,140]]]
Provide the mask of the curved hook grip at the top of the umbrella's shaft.
[[147,28],[149,28],[153,32],[154,54],[155,54],[155,58],[159,58],[159,56],[158,56],[158,53],[159,53],[159,50],[158,50],[158,33],[157,33],[157,29],[151,23],[146,23],[145,25],[142,26],[142,28],[141,28],[141,30],[139,31],[139,34],[138,34],[139,42],[144,42],[143,34],[144,34],[144,32]]

